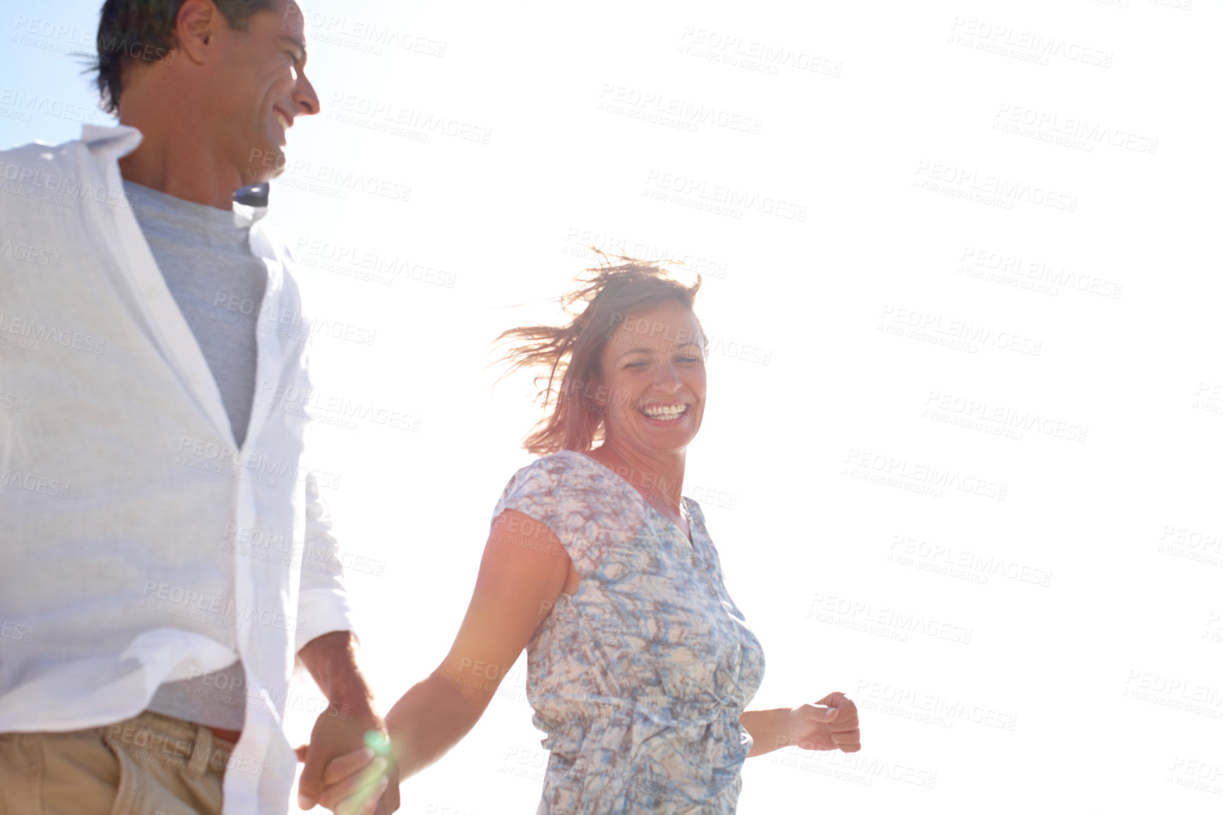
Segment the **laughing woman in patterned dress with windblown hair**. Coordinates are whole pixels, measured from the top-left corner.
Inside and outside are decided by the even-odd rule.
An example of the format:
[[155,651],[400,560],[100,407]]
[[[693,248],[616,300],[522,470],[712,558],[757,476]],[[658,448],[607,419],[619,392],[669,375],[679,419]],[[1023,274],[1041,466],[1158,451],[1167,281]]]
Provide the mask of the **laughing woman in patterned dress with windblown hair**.
[[[843,694],[744,712],[763,653],[680,494],[706,400],[698,289],[626,259],[563,299],[585,306],[566,326],[501,335],[511,371],[548,371],[550,411],[525,444],[543,458],[497,504],[450,653],[386,716],[400,780],[475,726],[523,647],[550,750],[542,814],[734,813],[747,756],[860,748]],[[380,789],[353,772],[322,802],[353,811]]]

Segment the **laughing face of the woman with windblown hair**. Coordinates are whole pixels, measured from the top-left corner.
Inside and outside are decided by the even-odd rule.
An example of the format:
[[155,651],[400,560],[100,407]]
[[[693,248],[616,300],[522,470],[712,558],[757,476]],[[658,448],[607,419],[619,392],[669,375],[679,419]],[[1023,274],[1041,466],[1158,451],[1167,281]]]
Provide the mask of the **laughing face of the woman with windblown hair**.
[[678,300],[626,314],[599,357],[608,442],[646,455],[682,450],[704,414],[704,346]]

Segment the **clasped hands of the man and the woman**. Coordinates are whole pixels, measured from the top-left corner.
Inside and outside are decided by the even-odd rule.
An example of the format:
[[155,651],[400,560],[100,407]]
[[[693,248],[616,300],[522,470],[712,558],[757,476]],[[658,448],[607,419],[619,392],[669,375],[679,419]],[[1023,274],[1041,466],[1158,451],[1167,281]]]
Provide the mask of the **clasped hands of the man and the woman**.
[[[364,746],[362,746],[364,745]],[[323,713],[309,746],[297,748],[306,762],[297,805],[323,804],[336,815],[389,815],[399,809],[399,768],[386,726],[368,707],[349,717]]]

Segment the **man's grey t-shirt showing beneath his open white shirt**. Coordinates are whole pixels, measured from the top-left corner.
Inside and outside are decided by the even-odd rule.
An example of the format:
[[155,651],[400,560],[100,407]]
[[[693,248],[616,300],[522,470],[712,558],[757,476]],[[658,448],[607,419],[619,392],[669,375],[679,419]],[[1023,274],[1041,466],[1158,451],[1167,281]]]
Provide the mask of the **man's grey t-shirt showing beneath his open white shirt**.
[[[251,253],[253,220],[238,212],[175,198],[124,181],[144,240],[170,294],[194,334],[225,403],[238,447],[254,399],[256,322],[268,285],[263,261]],[[215,673],[158,688],[148,710],[224,729],[242,729],[246,711],[241,661]]]

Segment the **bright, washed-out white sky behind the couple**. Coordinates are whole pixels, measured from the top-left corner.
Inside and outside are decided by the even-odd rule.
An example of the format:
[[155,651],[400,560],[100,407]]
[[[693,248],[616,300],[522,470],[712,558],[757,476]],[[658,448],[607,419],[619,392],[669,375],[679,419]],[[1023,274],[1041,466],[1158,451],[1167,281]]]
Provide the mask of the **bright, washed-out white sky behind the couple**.
[[[68,55],[98,7],[5,4],[0,148],[109,121]],[[740,813],[1218,811],[1217,4],[306,11],[323,114],[269,217],[371,339],[318,339],[320,389],[401,414],[312,437],[384,707],[530,461],[489,343],[596,245],[704,272],[685,492],[766,647],[752,706],[861,707],[861,753],[748,760]],[[534,811],[523,668],[401,811]]]

